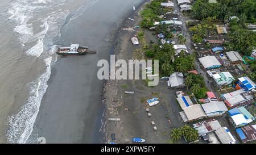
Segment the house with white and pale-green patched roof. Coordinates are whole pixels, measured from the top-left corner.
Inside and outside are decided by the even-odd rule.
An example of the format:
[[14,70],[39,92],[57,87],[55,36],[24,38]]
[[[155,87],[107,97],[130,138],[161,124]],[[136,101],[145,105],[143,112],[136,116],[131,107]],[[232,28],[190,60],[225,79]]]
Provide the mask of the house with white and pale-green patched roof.
[[213,74],[213,79],[217,86],[225,86],[231,84],[235,79],[229,72],[220,72]]

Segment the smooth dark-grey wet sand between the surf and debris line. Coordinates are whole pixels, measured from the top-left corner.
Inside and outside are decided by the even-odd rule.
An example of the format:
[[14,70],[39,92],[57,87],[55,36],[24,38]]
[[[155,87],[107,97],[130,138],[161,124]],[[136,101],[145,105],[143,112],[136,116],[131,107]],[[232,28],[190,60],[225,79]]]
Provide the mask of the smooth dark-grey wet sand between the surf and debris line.
[[109,60],[118,23],[141,1],[98,1],[78,18],[61,28],[56,44],[79,43],[97,55],[62,56],[53,65],[34,132],[47,143],[101,143],[104,111],[97,61]]

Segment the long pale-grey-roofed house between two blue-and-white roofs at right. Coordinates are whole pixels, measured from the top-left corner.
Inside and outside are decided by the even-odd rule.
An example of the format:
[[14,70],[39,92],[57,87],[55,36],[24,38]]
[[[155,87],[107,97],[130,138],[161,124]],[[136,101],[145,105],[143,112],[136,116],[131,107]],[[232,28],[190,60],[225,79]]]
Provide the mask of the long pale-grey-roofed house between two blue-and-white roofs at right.
[[229,108],[245,106],[253,103],[253,95],[247,93],[243,89],[221,94],[221,98]]

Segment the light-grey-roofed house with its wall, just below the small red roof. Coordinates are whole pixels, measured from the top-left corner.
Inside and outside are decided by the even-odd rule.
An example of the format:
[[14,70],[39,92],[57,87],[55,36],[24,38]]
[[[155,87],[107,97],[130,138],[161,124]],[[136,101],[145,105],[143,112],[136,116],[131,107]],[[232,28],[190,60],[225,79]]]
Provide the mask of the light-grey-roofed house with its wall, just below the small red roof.
[[225,103],[222,101],[204,103],[201,106],[208,117],[221,116],[228,111],[228,108],[226,108]]

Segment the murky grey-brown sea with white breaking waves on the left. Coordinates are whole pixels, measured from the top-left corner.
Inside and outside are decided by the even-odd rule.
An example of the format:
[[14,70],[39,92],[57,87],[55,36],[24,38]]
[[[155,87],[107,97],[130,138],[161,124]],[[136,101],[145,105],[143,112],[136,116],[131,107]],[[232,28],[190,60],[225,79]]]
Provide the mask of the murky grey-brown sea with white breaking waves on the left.
[[0,143],[28,143],[65,27],[98,0],[0,2]]

